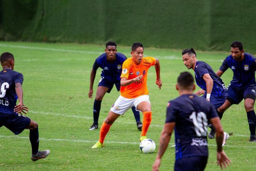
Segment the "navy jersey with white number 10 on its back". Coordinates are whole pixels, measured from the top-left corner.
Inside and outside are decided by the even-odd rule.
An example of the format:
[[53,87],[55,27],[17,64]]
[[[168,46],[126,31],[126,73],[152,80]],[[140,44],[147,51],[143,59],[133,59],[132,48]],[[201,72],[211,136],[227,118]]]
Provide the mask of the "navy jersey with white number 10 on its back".
[[215,117],[218,114],[211,103],[194,94],[169,101],[165,123],[175,122],[176,159],[208,156],[207,126]]

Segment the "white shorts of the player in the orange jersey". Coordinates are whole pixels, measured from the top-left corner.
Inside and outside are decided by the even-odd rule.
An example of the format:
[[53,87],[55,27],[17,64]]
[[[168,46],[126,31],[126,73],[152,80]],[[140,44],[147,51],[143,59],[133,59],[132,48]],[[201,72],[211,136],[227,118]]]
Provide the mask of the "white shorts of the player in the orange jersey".
[[[111,107],[110,110],[113,113],[123,115],[123,113],[125,113],[127,110],[129,110],[132,106],[135,106],[136,110],[137,110],[137,105],[143,101],[147,101],[150,103],[149,95],[142,95],[142,96],[136,97],[134,99],[128,99],[123,96],[119,96],[117,101],[113,104],[113,106]],[[139,111],[139,110],[137,110],[137,111]]]

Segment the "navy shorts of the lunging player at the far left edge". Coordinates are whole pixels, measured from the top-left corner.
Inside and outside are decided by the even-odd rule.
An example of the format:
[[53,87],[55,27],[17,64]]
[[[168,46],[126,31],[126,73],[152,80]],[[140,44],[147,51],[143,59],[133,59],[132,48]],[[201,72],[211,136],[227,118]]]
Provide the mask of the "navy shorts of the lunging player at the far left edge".
[[23,132],[24,129],[29,126],[30,122],[31,119],[26,116],[13,116],[5,113],[0,113],[0,128],[2,126],[5,126],[6,128],[10,129],[10,131],[13,132],[15,135]]

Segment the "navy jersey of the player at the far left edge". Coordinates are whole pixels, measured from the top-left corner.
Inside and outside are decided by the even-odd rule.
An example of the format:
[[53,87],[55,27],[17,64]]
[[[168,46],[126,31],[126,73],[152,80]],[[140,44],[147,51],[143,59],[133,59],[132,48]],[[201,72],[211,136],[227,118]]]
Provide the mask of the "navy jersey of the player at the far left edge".
[[17,115],[13,112],[18,98],[15,91],[16,83],[23,83],[23,74],[11,69],[0,72],[0,113]]

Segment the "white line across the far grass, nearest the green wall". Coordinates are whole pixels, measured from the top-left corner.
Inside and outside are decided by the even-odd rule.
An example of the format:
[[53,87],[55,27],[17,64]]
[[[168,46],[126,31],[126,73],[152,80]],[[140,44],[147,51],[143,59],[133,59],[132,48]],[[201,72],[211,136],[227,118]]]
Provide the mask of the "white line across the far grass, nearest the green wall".
[[[86,53],[86,54],[102,54],[104,52],[94,52],[94,51],[79,51],[79,50],[69,50],[69,49],[58,49],[58,48],[40,48],[40,47],[33,47],[33,46],[21,46],[21,45],[5,45],[0,44],[0,47],[8,47],[8,48],[23,48],[23,49],[32,49],[32,50],[43,50],[43,51],[54,51],[54,52],[69,52],[69,53]],[[130,54],[125,54],[127,57],[130,57]],[[144,56],[148,56],[144,54]],[[154,56],[155,58],[162,58],[162,59],[173,59],[173,60],[181,60],[181,57],[177,57],[175,55],[171,56]],[[225,58],[226,56],[224,56]],[[224,60],[223,58],[223,60]],[[84,60],[85,58],[80,58],[79,60]],[[35,61],[36,59],[28,59],[26,61]],[[58,59],[59,61],[68,61],[69,58]],[[77,59],[78,60],[78,59]],[[199,61],[218,61],[222,62],[222,59],[199,59]]]

